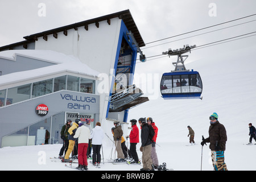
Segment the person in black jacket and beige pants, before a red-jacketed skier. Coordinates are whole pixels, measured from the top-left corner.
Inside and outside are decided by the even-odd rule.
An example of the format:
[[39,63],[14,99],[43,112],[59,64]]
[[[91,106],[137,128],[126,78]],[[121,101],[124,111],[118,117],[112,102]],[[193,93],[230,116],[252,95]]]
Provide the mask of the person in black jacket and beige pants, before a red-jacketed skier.
[[141,126],[141,152],[142,152],[142,163],[143,168],[141,171],[154,170],[152,168],[152,158],[151,158],[151,150],[152,150],[152,142],[149,138],[150,129],[148,127],[148,123],[146,122],[146,118],[139,118],[139,125]]

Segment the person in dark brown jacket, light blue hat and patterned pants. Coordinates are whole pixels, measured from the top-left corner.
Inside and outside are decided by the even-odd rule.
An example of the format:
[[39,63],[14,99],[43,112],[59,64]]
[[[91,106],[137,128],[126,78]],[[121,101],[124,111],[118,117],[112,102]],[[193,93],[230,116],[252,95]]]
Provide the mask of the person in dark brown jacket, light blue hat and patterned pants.
[[224,151],[226,148],[226,129],[218,121],[218,114],[213,113],[210,115],[210,127],[209,127],[209,137],[203,139],[201,145],[204,146],[205,143],[210,143],[210,150],[212,156],[212,164],[215,171],[228,171],[226,163],[224,162]]

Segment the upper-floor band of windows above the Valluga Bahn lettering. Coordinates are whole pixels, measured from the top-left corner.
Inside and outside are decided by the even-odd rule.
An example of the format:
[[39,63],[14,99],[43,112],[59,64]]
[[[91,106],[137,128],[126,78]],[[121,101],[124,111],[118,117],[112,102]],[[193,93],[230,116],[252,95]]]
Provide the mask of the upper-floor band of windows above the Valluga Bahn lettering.
[[71,90],[95,94],[95,80],[64,75],[0,90],[0,107],[57,92],[59,90]]

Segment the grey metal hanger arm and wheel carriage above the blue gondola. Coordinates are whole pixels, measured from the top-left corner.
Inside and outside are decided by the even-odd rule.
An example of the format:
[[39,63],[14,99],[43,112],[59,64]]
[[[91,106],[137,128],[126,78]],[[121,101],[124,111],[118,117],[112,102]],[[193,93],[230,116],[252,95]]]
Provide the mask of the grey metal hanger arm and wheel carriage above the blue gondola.
[[[172,50],[171,48],[168,49],[168,51],[166,52],[162,52],[163,55],[169,55],[170,56],[177,56],[177,61],[172,63],[174,66],[175,66],[175,69],[174,71],[171,71],[171,72],[184,72],[184,71],[189,71],[185,68],[185,65],[184,65],[184,61],[188,58],[188,55],[183,55],[184,53],[187,53],[187,52],[191,52],[191,49],[192,48],[195,48],[196,45],[194,46],[189,46],[188,44],[183,48],[180,48],[180,49],[174,49]],[[183,59],[183,57],[185,57],[185,59]]]

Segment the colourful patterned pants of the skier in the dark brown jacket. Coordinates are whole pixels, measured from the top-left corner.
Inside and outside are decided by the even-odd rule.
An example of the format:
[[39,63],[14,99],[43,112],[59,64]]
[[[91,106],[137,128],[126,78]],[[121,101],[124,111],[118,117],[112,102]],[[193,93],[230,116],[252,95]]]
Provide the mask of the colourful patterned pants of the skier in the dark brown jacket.
[[214,171],[228,171],[224,162],[224,151],[211,151]]

